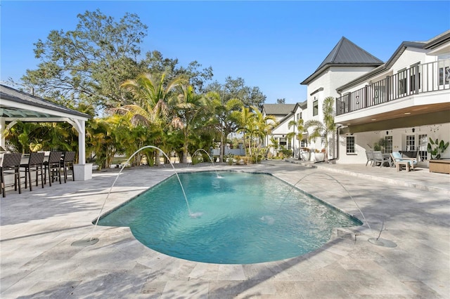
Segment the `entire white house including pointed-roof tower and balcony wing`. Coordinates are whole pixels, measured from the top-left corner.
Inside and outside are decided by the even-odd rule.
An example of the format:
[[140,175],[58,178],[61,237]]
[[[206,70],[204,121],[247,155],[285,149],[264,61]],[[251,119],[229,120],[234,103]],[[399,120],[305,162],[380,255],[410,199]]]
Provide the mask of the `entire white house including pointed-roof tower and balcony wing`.
[[[307,85],[307,101],[286,107],[266,138],[266,145],[276,138],[295,157],[300,147],[321,150],[325,140],[309,142],[307,132],[301,142],[287,140],[293,130],[288,123],[323,121],[322,103],[329,96],[335,98],[338,130],[328,140],[328,158],[336,163],[365,164],[366,150],[383,139],[385,152],[417,152],[426,167],[429,138],[450,140],[450,30],[429,41],[401,43],[385,63],[342,37],[301,84]],[[442,157],[449,158],[450,149]]]

